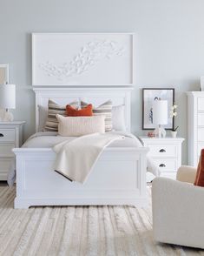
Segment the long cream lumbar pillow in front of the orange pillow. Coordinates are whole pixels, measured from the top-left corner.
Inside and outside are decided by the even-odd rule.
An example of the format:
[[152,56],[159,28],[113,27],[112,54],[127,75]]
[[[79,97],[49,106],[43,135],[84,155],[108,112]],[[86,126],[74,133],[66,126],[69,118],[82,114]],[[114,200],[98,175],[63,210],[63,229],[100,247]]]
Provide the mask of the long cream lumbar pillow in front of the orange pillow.
[[82,136],[95,132],[105,132],[105,116],[63,117],[56,115],[58,133],[61,136]]

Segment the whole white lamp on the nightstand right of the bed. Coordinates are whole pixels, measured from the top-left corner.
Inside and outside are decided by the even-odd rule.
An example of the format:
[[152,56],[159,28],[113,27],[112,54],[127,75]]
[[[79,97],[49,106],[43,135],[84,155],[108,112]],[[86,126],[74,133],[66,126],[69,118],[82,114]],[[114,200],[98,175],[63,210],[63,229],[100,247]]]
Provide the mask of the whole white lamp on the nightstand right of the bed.
[[168,124],[168,101],[155,100],[153,103],[153,124],[156,125],[155,134],[159,138],[166,137],[166,131],[162,125]]

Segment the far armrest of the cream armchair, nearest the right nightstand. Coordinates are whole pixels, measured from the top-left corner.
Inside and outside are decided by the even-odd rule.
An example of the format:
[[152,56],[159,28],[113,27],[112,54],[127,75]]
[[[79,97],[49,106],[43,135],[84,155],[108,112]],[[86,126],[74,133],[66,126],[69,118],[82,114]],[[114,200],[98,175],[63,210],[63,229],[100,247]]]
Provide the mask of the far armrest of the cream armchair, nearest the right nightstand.
[[194,183],[197,169],[193,166],[181,166],[176,175],[176,180],[188,183]]

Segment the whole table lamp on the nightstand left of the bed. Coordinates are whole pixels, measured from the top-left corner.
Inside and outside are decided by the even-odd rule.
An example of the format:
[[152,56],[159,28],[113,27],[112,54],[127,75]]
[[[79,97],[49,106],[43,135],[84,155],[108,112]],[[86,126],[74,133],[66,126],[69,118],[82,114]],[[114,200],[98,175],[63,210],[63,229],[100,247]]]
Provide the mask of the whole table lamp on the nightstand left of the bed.
[[16,109],[16,85],[0,84],[0,108],[5,109],[3,121],[13,121],[10,109]]

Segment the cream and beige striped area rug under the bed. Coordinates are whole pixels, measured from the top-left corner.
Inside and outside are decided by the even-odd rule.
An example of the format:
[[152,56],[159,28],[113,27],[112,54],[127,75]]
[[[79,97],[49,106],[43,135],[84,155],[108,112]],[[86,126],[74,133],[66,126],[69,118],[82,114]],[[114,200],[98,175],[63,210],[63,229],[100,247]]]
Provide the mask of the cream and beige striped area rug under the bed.
[[204,255],[155,243],[150,203],[15,210],[15,192],[0,186],[0,255]]

